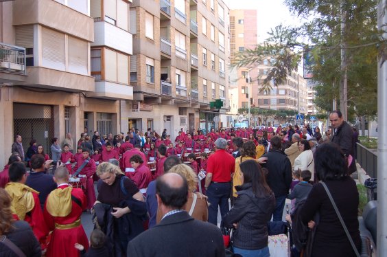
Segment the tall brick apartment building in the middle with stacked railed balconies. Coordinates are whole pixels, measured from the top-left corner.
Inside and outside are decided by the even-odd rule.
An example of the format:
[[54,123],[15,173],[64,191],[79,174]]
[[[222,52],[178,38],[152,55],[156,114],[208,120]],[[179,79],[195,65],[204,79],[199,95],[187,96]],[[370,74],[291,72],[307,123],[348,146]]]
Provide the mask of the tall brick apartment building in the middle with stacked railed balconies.
[[[222,0],[134,0],[130,85],[121,101],[128,128],[218,129],[228,109],[228,8]],[[210,102],[222,100],[220,111]],[[214,121],[215,118],[215,121]]]

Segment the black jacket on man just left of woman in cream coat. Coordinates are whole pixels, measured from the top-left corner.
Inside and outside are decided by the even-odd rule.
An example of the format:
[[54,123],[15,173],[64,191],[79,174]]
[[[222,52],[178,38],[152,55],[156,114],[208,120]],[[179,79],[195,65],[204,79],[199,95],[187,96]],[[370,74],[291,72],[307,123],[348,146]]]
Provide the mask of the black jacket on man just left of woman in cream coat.
[[288,156],[282,150],[270,150],[262,157],[268,157],[266,164],[261,166],[269,170],[266,181],[274,195],[276,197],[288,195],[292,183],[292,164]]

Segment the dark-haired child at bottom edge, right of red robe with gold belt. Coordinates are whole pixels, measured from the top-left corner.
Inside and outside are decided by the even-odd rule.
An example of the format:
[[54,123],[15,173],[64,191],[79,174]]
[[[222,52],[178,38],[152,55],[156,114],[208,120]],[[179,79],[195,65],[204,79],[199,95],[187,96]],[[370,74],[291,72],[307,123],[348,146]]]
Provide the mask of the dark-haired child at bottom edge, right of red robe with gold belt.
[[101,230],[93,230],[90,235],[90,247],[86,250],[83,245],[76,243],[74,245],[76,249],[80,251],[81,256],[84,257],[104,257],[104,256],[112,256],[108,247],[105,244],[105,234]]

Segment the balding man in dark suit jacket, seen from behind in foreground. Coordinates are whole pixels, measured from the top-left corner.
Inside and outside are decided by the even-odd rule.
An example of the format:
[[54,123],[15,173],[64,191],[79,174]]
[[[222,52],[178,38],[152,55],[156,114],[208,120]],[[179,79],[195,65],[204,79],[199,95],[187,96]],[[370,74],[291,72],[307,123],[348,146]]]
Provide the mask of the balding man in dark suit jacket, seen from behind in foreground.
[[193,219],[187,203],[187,181],[167,173],[156,181],[161,222],[128,243],[127,256],[224,256],[222,233],[215,225]]

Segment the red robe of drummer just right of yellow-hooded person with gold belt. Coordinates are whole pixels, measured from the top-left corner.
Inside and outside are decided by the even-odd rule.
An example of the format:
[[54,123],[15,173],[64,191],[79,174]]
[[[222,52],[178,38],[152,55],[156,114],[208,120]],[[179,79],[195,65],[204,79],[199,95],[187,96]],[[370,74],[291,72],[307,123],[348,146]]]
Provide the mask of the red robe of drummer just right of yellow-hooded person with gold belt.
[[[75,171],[78,170],[78,167],[82,166],[84,163],[84,158],[80,158],[75,165]],[[93,175],[95,174],[95,161],[90,158],[89,164],[86,164],[84,168],[80,171],[80,175],[86,175],[86,199],[87,199],[87,209],[93,208],[95,203],[95,190],[94,190],[94,181]]]

